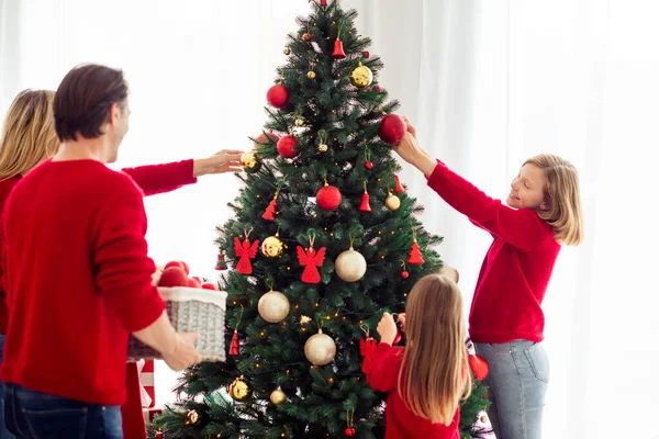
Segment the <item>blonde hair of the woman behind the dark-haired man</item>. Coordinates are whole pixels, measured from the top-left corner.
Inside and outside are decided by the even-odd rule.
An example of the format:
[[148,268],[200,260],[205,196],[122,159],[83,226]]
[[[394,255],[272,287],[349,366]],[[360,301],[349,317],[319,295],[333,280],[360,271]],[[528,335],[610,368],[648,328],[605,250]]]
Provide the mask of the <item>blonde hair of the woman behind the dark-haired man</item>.
[[4,117],[0,138],[0,180],[25,175],[57,153],[51,90],[23,90]]

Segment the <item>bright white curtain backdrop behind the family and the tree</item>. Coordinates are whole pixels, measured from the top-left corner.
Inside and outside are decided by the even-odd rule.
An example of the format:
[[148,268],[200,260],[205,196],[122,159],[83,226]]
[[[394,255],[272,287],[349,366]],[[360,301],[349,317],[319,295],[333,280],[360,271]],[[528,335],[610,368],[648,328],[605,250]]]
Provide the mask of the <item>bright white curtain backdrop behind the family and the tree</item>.
[[[654,270],[659,133],[659,4],[650,0],[344,0],[360,12],[380,82],[422,145],[493,196],[525,158],[580,170],[587,239],[565,248],[545,301],[551,361],[547,438],[651,438],[659,410]],[[24,88],[55,88],[78,63],[125,70],[131,133],[118,166],[248,148],[265,92],[305,0],[112,3],[0,0],[0,115]],[[424,223],[471,297],[490,244],[405,167]],[[146,200],[158,262],[214,277],[214,226],[233,177]],[[647,251],[643,251],[647,250]],[[158,367],[157,398],[174,374]]]

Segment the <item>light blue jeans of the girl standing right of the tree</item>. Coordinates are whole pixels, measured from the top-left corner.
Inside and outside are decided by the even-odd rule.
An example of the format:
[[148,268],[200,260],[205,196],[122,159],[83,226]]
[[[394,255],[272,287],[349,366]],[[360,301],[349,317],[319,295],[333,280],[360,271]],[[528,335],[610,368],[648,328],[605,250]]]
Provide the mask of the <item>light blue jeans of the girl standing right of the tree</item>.
[[488,410],[496,439],[540,439],[549,360],[540,344],[474,344],[490,365]]

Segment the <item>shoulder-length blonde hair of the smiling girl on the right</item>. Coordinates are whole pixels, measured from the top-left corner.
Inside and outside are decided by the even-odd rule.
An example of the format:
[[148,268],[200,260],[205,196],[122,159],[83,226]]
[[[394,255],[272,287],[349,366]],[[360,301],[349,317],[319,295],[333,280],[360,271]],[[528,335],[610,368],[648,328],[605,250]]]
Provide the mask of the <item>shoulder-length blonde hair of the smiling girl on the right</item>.
[[559,243],[568,246],[581,244],[583,219],[577,168],[551,154],[532,157],[524,162],[526,164],[537,166],[545,173],[545,202],[549,209],[538,211],[540,218],[554,227]]

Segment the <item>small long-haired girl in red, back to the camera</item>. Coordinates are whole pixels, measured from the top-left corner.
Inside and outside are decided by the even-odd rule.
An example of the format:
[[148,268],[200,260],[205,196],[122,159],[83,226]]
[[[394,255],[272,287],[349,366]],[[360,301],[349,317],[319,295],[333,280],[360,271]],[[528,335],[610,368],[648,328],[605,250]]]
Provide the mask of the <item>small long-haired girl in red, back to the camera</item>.
[[459,439],[458,404],[471,392],[471,375],[458,285],[439,274],[422,278],[405,316],[406,347],[394,348],[395,323],[382,315],[380,344],[366,373],[371,387],[389,392],[384,438]]

